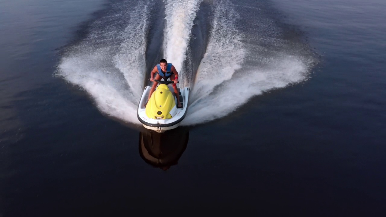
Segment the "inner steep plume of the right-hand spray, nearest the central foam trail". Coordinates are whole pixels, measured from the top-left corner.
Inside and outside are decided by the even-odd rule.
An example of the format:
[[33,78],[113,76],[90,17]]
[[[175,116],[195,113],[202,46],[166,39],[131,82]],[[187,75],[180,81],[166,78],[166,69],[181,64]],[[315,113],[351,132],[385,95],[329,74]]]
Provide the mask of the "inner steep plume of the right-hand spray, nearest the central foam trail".
[[196,74],[191,97],[193,109],[197,103],[212,93],[217,85],[232,78],[232,75],[241,68],[246,51],[241,42],[240,32],[234,27],[236,17],[237,14],[231,5],[217,5],[207,52]]

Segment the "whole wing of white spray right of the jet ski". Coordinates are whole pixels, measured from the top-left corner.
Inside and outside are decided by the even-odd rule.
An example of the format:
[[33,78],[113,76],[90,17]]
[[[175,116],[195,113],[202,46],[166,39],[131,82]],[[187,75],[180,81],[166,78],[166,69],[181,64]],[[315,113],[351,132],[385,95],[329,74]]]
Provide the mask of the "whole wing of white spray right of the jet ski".
[[[191,105],[182,125],[225,117],[255,95],[307,77],[309,64],[305,59],[284,51],[261,56],[259,52],[264,49],[256,40],[259,37],[248,41],[248,36],[237,31],[234,6],[220,1],[216,7],[208,49],[198,68]],[[251,61],[254,57],[260,63]]]

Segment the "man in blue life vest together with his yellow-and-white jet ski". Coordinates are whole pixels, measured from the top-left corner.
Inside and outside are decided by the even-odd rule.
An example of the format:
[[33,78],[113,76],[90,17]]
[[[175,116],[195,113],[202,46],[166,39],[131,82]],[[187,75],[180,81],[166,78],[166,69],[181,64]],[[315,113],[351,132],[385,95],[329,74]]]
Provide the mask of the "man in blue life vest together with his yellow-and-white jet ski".
[[[138,105],[138,120],[145,128],[156,132],[178,127],[188,109],[190,89],[177,88],[178,72],[166,59],[161,59],[159,64],[154,66],[150,77],[150,81],[154,83],[152,87],[145,87]],[[164,81],[161,81],[162,78]],[[173,86],[169,87],[169,84]]]

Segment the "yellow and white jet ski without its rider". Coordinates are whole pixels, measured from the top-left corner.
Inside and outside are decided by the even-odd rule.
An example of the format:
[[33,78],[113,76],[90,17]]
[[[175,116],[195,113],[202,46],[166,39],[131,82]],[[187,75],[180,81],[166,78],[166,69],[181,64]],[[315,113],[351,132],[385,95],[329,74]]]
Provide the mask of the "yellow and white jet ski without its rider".
[[[151,86],[146,86],[139,101],[137,117],[146,129],[151,129],[162,133],[178,127],[185,118],[188,110],[188,100],[190,89],[177,88],[179,95],[175,96],[173,81],[154,80],[158,83],[149,101],[146,104]],[[177,108],[177,98],[182,104],[182,108]]]

